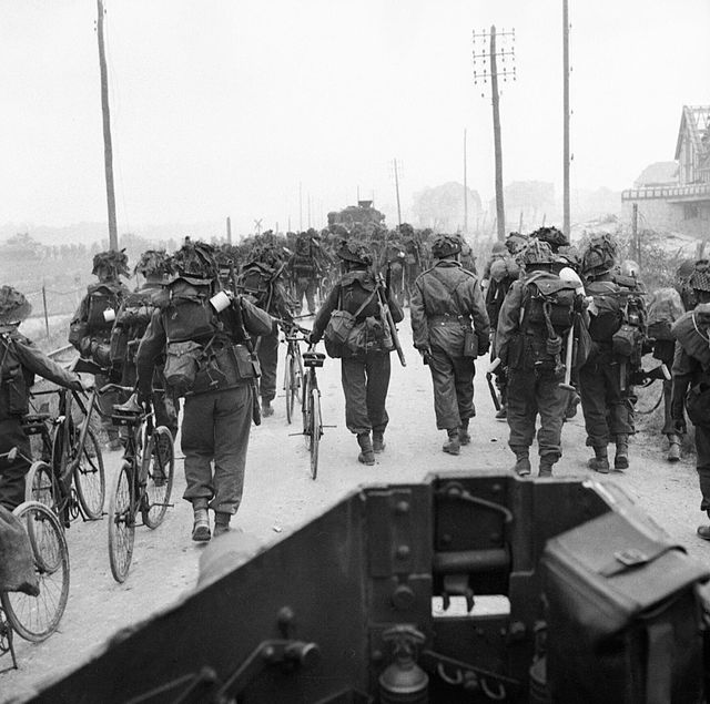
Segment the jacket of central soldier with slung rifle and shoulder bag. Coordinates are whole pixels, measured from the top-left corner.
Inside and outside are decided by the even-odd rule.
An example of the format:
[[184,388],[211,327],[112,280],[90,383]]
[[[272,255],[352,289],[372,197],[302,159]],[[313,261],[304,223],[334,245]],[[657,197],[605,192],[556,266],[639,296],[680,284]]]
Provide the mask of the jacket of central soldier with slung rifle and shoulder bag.
[[[333,310],[347,310],[355,315],[357,309],[369,298],[377,286],[377,282],[372,272],[355,271],[348,272],[341,278],[341,280],[333,286],[333,289],[328,294],[321,309],[315,316],[313,322],[313,331],[311,339],[317,341],[323,337],[323,333],[327,327]],[[372,300],[363,308],[357,315],[357,323],[362,323],[368,317],[379,316],[379,304],[375,294]],[[399,304],[393,298],[392,294],[387,298],[387,305],[389,306],[389,313],[392,313],[392,319],[394,323],[399,323],[404,319],[404,312]]]

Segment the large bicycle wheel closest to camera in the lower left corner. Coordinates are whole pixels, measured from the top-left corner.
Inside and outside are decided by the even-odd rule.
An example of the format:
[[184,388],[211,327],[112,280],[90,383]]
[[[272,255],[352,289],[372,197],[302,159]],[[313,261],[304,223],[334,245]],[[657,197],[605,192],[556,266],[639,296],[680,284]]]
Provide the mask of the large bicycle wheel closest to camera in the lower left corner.
[[12,629],[27,641],[38,643],[57,631],[67,608],[69,550],[57,516],[43,503],[26,501],[13,513],[30,537],[40,592],[37,596],[2,592],[0,599]]

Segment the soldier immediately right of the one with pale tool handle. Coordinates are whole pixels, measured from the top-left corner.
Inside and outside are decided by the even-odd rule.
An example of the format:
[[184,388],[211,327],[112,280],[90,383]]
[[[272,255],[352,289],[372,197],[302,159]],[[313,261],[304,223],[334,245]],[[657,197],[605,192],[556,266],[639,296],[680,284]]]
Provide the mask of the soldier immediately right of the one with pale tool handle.
[[626,295],[616,283],[617,246],[609,235],[594,237],[582,253],[585,288],[594,297],[589,307],[589,334],[595,345],[579,373],[587,445],[595,451],[589,467],[609,471],[607,446],[616,443],[615,469],[629,466],[629,435],[633,429],[632,390],[629,387],[628,350],[615,343],[625,323]]

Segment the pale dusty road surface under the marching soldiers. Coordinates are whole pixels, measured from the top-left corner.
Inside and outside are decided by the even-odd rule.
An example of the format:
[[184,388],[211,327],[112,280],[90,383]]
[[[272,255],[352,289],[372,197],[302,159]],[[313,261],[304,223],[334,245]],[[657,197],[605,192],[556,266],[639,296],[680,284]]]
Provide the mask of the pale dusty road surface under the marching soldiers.
[[[378,456],[377,463],[364,467],[357,462],[357,443],[344,422],[339,363],[327,359],[318,370],[323,420],[337,427],[325,430],[317,480],[308,475],[303,438],[290,435],[298,426],[286,425],[284,399],[277,398],[274,416],[252,431],[237,527],[263,543],[271,543],[361,483],[417,481],[442,469],[476,471],[511,467],[508,426],[494,419],[485,384],[485,360],[478,365],[476,377],[478,415],[471,425],[473,442],[462,449],[459,457],[450,457],[442,452],[445,433],[435,427],[429,373],[412,348],[408,319],[400,326],[400,333],[408,366],[402,368],[393,355],[390,426],[386,450]],[[590,451],[585,448],[581,414],[567,424],[562,440],[565,457],[555,472],[588,476],[586,461]],[[109,486],[119,461],[118,452],[106,456]],[[710,564],[710,543],[696,537],[703,516],[698,508],[700,498],[692,460],[668,465],[660,450],[660,437],[639,435],[631,445],[630,469],[608,475],[608,481],[620,486],[692,555]],[[191,507],[181,499],[183,489],[182,462],[178,462],[175,507],[155,531],[136,529],[133,563],[124,584],[118,584],[111,577],[105,518],[71,526],[67,531],[71,591],[60,631],[41,644],[16,639],[19,670],[0,674],[0,701],[26,697],[42,680],[81,663],[116,630],[171,604],[195,584],[203,548],[190,540]],[[0,661],[0,666],[7,664]]]

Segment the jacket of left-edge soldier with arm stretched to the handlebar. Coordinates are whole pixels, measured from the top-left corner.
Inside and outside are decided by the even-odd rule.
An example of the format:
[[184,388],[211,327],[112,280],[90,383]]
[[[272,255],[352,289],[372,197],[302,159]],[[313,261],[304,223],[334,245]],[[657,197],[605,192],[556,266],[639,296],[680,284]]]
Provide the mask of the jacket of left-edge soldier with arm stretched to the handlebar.
[[4,361],[1,367],[0,420],[21,417],[29,412],[29,396],[34,384],[34,375],[81,391],[79,375],[60,367],[17,330],[0,338],[0,360],[2,359]]

